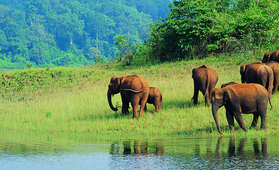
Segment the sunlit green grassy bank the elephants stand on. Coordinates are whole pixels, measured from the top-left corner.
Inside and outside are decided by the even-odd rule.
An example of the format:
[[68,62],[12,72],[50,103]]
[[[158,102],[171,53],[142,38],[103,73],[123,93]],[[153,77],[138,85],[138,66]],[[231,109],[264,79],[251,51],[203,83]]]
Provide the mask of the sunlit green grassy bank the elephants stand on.
[[[240,65],[254,61],[259,61],[259,58],[220,56],[134,68],[106,63],[79,68],[37,68],[2,72],[10,78],[1,80],[0,129],[218,136],[211,107],[206,107],[204,101],[201,101],[201,92],[197,106],[191,101],[192,69],[206,64],[216,70],[219,76],[216,87],[220,87],[230,81],[240,83]],[[111,77],[131,74],[143,77],[150,87],[157,87],[162,92],[161,112],[156,113],[154,106],[148,104],[148,112],[144,113],[144,117],[133,120],[132,108],[129,115],[122,115],[121,108],[117,112],[109,108],[106,93]],[[224,135],[277,135],[278,99],[278,94],[272,96],[273,109],[268,109],[268,128],[265,131],[259,130],[259,124],[256,129],[245,133],[235,121],[236,133],[230,133],[225,108],[220,108],[219,120]],[[112,102],[114,106],[121,107],[120,94],[113,96]],[[242,116],[246,126],[250,127],[253,115]]]

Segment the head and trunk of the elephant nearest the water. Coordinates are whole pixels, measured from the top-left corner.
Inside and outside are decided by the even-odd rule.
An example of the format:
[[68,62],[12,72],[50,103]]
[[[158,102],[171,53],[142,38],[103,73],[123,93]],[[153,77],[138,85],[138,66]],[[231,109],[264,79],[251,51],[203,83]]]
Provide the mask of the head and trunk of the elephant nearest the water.
[[218,109],[225,105],[226,101],[231,98],[231,95],[226,88],[214,88],[211,93],[210,101],[212,104],[212,115],[214,117],[217,130],[220,134],[224,134],[220,129],[218,118]]

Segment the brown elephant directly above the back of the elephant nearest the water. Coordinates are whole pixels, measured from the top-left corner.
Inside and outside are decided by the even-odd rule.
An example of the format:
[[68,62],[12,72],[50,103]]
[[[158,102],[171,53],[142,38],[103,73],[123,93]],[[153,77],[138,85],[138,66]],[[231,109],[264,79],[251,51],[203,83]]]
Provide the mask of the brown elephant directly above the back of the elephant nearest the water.
[[273,84],[272,69],[261,63],[252,62],[250,64],[242,64],[240,66],[241,83],[257,83],[262,85],[268,91],[271,97]]

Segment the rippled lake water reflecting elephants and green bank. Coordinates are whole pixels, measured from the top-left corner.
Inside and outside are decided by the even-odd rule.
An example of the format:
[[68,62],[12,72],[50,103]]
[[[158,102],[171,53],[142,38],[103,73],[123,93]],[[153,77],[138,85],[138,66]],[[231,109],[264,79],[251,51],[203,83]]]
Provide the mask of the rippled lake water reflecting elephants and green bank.
[[279,138],[0,131],[0,169],[279,169]]

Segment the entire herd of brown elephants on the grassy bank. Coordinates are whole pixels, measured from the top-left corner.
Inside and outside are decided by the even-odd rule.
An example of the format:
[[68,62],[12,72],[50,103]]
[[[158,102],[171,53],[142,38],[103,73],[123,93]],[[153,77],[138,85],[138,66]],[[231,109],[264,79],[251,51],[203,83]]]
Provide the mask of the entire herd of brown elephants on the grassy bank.
[[[192,70],[194,80],[193,103],[197,104],[198,93],[202,92],[205,103],[212,105],[217,130],[220,129],[218,109],[222,106],[226,109],[226,117],[230,130],[234,131],[234,118],[239,126],[247,131],[241,113],[253,114],[251,127],[256,127],[261,117],[261,130],[266,129],[266,113],[268,101],[271,105],[272,86],[273,93],[277,93],[279,85],[279,50],[273,53],[265,53],[262,62],[252,62],[240,66],[241,84],[229,82],[222,84],[221,88],[215,88],[218,81],[216,71],[205,65]],[[246,83],[246,84],[245,84]],[[162,105],[162,93],[154,87],[149,87],[148,82],[137,75],[123,77],[112,77],[108,86],[108,103],[113,111],[111,96],[120,93],[122,99],[122,113],[129,113],[129,103],[133,108],[133,119],[138,118],[138,105],[140,105],[139,116],[147,111],[146,103],[153,104],[156,112],[160,111]],[[272,105],[271,105],[272,108]]]

